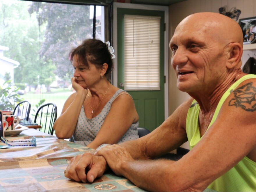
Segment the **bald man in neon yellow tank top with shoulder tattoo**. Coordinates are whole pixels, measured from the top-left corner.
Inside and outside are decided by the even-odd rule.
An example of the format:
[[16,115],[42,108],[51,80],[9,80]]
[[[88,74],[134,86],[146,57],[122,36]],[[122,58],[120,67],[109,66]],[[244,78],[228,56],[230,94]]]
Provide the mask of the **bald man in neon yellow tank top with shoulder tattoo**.
[[[196,13],[170,41],[177,87],[191,98],[150,134],[73,158],[65,176],[93,182],[107,168],[148,191],[256,191],[256,75],[241,71],[243,33]],[[151,160],[189,141],[178,161]]]

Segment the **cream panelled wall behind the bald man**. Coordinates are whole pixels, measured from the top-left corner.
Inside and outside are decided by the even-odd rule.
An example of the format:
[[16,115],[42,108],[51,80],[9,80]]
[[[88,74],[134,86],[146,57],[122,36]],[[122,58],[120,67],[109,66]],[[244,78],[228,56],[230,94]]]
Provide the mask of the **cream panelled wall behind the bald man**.
[[[180,3],[175,3],[169,6],[169,34],[170,39],[174,33],[176,26],[186,16],[198,12],[216,12],[220,7],[228,6],[229,10],[233,7],[241,10],[239,19],[256,16],[256,0],[187,0]],[[237,22],[239,22],[239,19]],[[169,39],[169,40],[170,40]],[[171,52],[170,52],[171,57]],[[256,50],[248,50],[243,52],[242,62],[248,60],[249,56],[256,58]],[[172,66],[170,65],[169,57],[169,115],[186,99],[189,98],[187,93],[179,91],[176,87],[176,77]],[[242,67],[243,67],[242,65]],[[184,148],[189,148],[188,143],[182,145]]]

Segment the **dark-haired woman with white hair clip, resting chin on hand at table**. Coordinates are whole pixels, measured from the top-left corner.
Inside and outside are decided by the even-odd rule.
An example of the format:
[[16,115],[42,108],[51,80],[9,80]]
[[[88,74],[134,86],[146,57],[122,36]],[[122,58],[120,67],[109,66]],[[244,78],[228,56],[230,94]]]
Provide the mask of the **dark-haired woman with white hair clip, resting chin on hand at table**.
[[72,87],[53,129],[58,138],[96,149],[138,138],[138,113],[132,97],[109,83],[113,48],[109,42],[88,39],[70,52]]

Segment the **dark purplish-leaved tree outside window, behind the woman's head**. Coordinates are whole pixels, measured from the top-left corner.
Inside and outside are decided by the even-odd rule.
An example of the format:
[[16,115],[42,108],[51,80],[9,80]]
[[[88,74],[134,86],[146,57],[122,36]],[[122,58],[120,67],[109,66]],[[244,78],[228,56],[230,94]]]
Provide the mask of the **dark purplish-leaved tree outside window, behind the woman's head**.
[[33,2],[29,7],[29,13],[37,13],[39,25],[46,25],[40,56],[45,64],[51,61],[56,66],[55,74],[64,82],[73,76],[68,59],[70,50],[82,40],[92,38],[93,21],[89,19],[89,8],[44,2]]

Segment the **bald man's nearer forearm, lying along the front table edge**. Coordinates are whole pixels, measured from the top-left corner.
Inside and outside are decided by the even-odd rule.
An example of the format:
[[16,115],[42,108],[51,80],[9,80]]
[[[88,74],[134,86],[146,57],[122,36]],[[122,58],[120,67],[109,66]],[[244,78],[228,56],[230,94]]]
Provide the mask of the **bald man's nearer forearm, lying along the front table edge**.
[[121,173],[132,183],[147,191],[202,191],[206,186],[188,182],[179,174],[175,161],[160,159],[122,163]]

